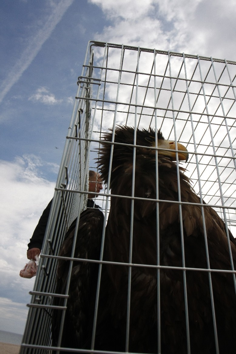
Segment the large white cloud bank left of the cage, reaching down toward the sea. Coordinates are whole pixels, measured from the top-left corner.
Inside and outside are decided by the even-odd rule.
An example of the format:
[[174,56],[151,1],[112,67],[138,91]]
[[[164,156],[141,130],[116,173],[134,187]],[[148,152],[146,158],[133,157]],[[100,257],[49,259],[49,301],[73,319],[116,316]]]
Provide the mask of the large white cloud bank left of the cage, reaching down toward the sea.
[[[3,314],[0,318],[9,322],[11,331],[13,313],[16,320],[26,319],[25,305],[30,301],[28,293],[33,290],[35,278],[20,278],[19,272],[28,262],[29,239],[54,193],[55,183],[41,177],[40,169],[44,165],[47,163],[34,155],[17,157],[13,162],[0,160],[0,183],[4,186],[0,213],[0,296],[7,298],[7,303],[0,299]],[[49,167],[55,166],[50,164]],[[16,304],[18,302],[20,304]],[[20,324],[23,331],[22,322]],[[4,322],[0,326],[7,330]]]

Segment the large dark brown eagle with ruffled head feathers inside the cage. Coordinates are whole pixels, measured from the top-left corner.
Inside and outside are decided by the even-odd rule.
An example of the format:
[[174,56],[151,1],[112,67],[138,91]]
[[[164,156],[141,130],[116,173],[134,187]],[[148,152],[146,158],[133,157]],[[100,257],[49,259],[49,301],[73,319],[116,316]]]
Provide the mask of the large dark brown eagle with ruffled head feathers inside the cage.
[[[236,242],[177,164],[187,159],[160,130],[104,133],[98,168],[110,211],[106,226],[100,210],[82,212],[74,255],[82,260],[58,261],[57,293],[65,293],[71,267],[62,347],[236,352]],[[60,256],[70,257],[74,237],[75,222]],[[55,310],[55,345],[61,318]]]

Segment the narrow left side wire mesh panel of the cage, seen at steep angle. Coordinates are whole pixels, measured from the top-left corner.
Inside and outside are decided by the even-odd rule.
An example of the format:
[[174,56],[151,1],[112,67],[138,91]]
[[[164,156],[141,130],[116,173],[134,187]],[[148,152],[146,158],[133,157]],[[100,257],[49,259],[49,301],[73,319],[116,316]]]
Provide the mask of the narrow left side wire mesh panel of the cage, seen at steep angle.
[[[42,246],[39,270],[36,276],[34,291],[27,324],[23,336],[26,345],[21,352],[44,352],[37,349],[49,346],[51,343],[51,310],[52,294],[55,292],[55,276],[57,255],[65,233],[79,212],[85,209],[88,190],[89,145],[93,119],[91,103],[85,98],[92,96],[90,78],[92,77],[93,53],[88,58],[87,67],[83,69],[78,81],[78,91],[81,99],[76,100],[71,116],[68,136],[59,169],[56,191],[54,193],[50,217]],[[82,139],[81,139],[82,138]],[[59,295],[60,296],[60,295]],[[66,298],[64,296],[64,298]],[[29,349],[29,344],[35,349]],[[48,352],[45,349],[45,352]]]

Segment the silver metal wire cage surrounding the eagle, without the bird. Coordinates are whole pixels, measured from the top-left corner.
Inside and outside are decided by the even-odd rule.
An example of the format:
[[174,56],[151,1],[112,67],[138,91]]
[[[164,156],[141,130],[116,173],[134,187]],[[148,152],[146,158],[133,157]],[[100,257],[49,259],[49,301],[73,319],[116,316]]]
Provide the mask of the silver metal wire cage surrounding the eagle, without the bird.
[[[52,299],[64,297],[65,312],[68,295],[54,293],[58,253],[68,227],[85,209],[88,170],[97,168],[97,148],[108,128],[154,127],[185,145],[190,158],[184,167],[195,192],[236,235],[235,77],[232,61],[88,43],[21,354],[59,350],[51,347]],[[107,219],[110,191],[104,188],[97,199]]]

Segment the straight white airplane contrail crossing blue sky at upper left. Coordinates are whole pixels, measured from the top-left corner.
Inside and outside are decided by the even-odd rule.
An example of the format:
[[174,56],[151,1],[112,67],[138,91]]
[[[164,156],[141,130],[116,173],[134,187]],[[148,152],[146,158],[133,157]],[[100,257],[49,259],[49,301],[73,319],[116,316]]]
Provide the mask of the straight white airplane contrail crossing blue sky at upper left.
[[38,31],[38,33],[32,37],[29,45],[22,52],[18,61],[10,70],[6,79],[2,81],[0,85],[0,103],[10,91],[13,85],[19,80],[23,72],[32,63],[38,52],[40,51],[44,42],[49,38],[53,29],[61,21],[65,11],[73,3],[74,0],[61,0],[56,6],[54,6],[51,15],[48,17],[44,26]]

